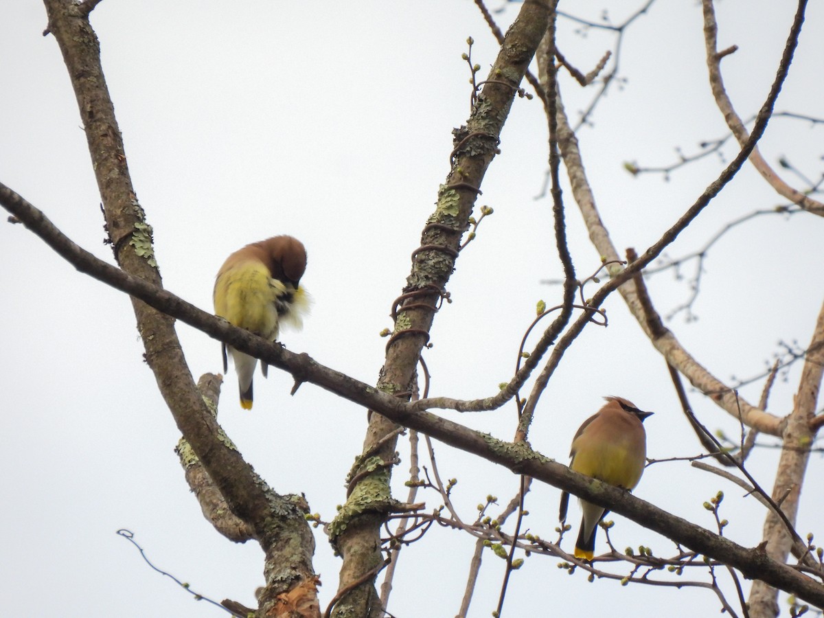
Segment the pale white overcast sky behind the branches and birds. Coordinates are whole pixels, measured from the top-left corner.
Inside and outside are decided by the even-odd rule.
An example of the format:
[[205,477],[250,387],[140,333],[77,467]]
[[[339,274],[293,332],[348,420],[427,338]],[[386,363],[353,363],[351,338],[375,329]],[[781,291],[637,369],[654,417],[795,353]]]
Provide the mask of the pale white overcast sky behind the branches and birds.
[[[640,2],[631,3],[634,7]],[[491,8],[499,7],[493,3]],[[563,5],[563,3],[562,3]],[[627,2],[562,6],[598,19],[604,6],[619,22]],[[498,15],[505,27],[520,5]],[[740,115],[754,114],[766,96],[794,14],[794,2],[719,2],[719,48],[737,44],[723,60],[728,92]],[[0,181],[12,187],[74,241],[105,260],[99,195],[86,139],[63,60],[38,2],[6,2],[0,38]],[[138,198],[155,229],[157,260],[166,288],[211,310],[213,277],[240,246],[279,233],[302,239],[309,251],[304,283],[316,299],[302,333],[285,333],[290,349],[374,382],[390,327],[388,313],[409,273],[438,183],[448,171],[453,127],[469,109],[469,77],[461,53],[466,37],[473,61],[486,68],[496,54],[479,12],[466,0],[419,2],[158,2],[105,0],[92,14],[101,40],[105,77]],[[797,60],[777,110],[822,117],[824,7],[812,2]],[[559,22],[566,57],[587,72],[611,37],[574,34]],[[673,162],[674,148],[722,137],[723,119],[709,95],[696,2],[659,0],[627,34],[621,56],[624,87],[613,88],[578,137],[602,218],[616,246],[644,250],[717,176],[708,157],[665,182],[633,178],[626,161],[642,166]],[[583,109],[592,88],[564,80],[570,115]],[[822,129],[775,119],[762,152],[781,155],[817,178]],[[433,327],[426,360],[433,396],[494,394],[508,379],[517,345],[539,298],[558,302],[559,277],[551,238],[550,204],[540,191],[546,160],[541,104],[517,100],[503,131],[502,154],[490,168],[480,204],[495,209],[475,242],[461,254],[448,285],[454,302]],[[727,147],[730,158],[735,150]],[[785,173],[785,172],[784,172]],[[798,185],[793,176],[791,184]],[[597,268],[583,223],[565,191],[569,236],[578,274]],[[783,201],[751,168],[682,234],[669,252],[695,250],[743,213]],[[4,218],[5,219],[5,218]],[[805,346],[822,302],[822,218],[759,218],[725,236],[709,255],[694,311],[668,325],[687,349],[723,379],[761,372],[779,340]],[[215,600],[253,605],[263,577],[254,543],[233,545],[204,521],[173,452],[179,434],[142,360],[129,301],[78,274],[21,226],[0,226],[3,317],[0,410],[0,560],[6,565],[0,606],[8,616],[223,616],[193,602],[115,536],[129,528],[162,569]],[[689,295],[668,274],[649,281],[662,313]],[[594,288],[590,289],[590,293]],[[689,456],[699,445],[682,418],[666,366],[640,335],[620,302],[606,303],[610,327],[588,328],[569,351],[545,392],[531,432],[541,452],[567,461],[578,424],[601,405],[599,397],[630,398],[648,420],[648,455]],[[220,369],[219,345],[180,325],[195,377]],[[798,368],[779,382],[770,411],[792,405]],[[230,375],[220,421],[255,470],[282,493],[304,492],[313,512],[330,520],[345,498],[344,477],[360,451],[363,410],[273,371],[257,379],[255,410],[236,403]],[[756,402],[761,383],[742,389]],[[737,424],[709,400],[691,394],[709,428],[737,433]],[[514,407],[449,418],[512,438]],[[763,438],[765,442],[775,442]],[[405,497],[396,472],[396,496]],[[508,471],[440,445],[444,478],[459,484],[452,497],[465,519],[487,494],[503,505],[517,480]],[[777,453],[761,450],[750,468],[771,489]],[[824,535],[819,454],[810,461],[798,530]],[[636,494],[681,517],[712,527],[701,504],[727,492],[727,534],[756,545],[764,510],[723,480],[684,463],[652,466]],[[531,531],[555,536],[559,491],[536,487],[527,501]],[[424,495],[428,508],[440,502]],[[497,509],[494,510],[497,512]],[[572,521],[578,517],[574,511]],[[657,555],[672,544],[615,517],[616,546],[649,545]],[[569,536],[574,536],[574,532]],[[571,539],[564,546],[570,547]],[[403,551],[390,611],[402,618],[454,616],[460,605],[474,542],[433,530]],[[603,549],[603,536],[599,536]],[[513,575],[505,616],[568,615],[583,603],[592,615],[705,616],[719,611],[699,589],[589,584],[556,568],[557,559],[532,556]],[[339,559],[321,534],[315,568],[321,604],[337,588]],[[471,616],[489,616],[497,601],[503,561],[485,555]],[[695,574],[698,577],[698,574]],[[733,600],[725,575],[720,576]],[[706,578],[702,575],[704,581]],[[747,589],[748,589],[748,583]],[[584,597],[584,595],[586,595]],[[582,600],[583,599],[583,600]],[[550,610],[550,607],[554,611]],[[667,608],[663,610],[662,608]]]

